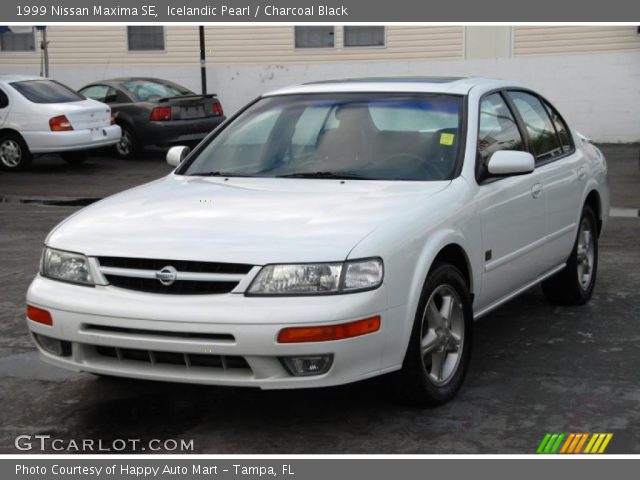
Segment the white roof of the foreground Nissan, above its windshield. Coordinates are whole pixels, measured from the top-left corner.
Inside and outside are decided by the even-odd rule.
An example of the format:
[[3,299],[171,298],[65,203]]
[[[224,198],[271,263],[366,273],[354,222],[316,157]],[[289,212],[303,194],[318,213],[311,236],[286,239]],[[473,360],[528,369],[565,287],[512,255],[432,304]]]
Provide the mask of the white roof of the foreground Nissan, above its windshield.
[[347,78],[293,85],[269,92],[265,96],[330,92],[425,92],[466,95],[474,87],[489,90],[505,86],[522,85],[517,82],[483,77]]

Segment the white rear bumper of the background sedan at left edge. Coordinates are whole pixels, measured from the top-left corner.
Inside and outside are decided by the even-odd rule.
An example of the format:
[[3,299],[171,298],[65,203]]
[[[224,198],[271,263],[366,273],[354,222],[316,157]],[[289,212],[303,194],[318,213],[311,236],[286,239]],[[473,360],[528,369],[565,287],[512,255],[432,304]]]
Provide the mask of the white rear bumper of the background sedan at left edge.
[[118,125],[68,132],[22,133],[32,153],[69,152],[105,147],[118,143],[120,135]]

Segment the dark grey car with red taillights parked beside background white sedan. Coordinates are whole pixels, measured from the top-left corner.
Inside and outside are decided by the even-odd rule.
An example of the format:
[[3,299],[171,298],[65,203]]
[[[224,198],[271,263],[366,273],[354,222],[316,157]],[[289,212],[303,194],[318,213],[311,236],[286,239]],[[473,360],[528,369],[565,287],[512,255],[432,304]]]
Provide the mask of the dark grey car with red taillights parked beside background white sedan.
[[198,95],[158,78],[114,78],[80,89],[83,95],[111,106],[122,139],[121,158],[139,155],[145,145],[196,144],[225,120],[215,94]]

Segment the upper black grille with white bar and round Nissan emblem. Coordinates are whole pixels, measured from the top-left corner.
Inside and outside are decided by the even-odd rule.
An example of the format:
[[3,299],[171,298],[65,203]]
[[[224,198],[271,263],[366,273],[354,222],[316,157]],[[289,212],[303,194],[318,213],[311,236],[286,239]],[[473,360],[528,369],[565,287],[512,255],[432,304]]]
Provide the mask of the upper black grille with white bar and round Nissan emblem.
[[[129,257],[98,257],[98,262],[105,280],[114,287],[169,295],[229,293],[253,268],[243,263]],[[156,278],[165,267],[174,272],[170,285]]]

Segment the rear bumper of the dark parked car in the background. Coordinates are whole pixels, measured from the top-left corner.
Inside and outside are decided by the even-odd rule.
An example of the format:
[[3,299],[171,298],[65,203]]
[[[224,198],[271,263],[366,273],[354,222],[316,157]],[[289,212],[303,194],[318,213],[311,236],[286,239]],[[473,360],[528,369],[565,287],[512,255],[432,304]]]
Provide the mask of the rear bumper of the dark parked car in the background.
[[225,120],[224,116],[148,122],[140,125],[139,135],[145,145],[168,147],[185,143],[200,142]]

